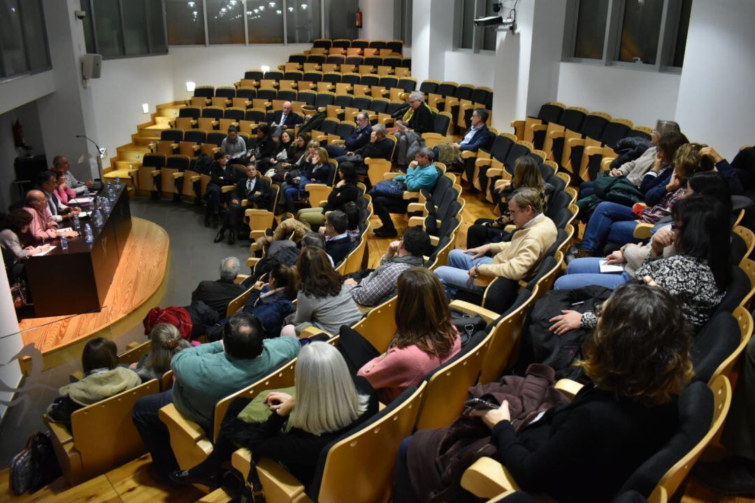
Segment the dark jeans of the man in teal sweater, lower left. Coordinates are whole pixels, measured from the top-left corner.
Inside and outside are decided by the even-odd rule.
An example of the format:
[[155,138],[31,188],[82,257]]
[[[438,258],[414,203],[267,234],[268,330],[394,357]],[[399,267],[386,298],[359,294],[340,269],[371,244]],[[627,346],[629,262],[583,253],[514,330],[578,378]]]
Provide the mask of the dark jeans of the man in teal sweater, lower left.
[[171,449],[168,427],[160,420],[159,410],[173,403],[173,390],[141,397],[134,403],[131,420],[134,422],[144,446],[152,454],[153,465],[163,477],[178,469],[178,462]]

